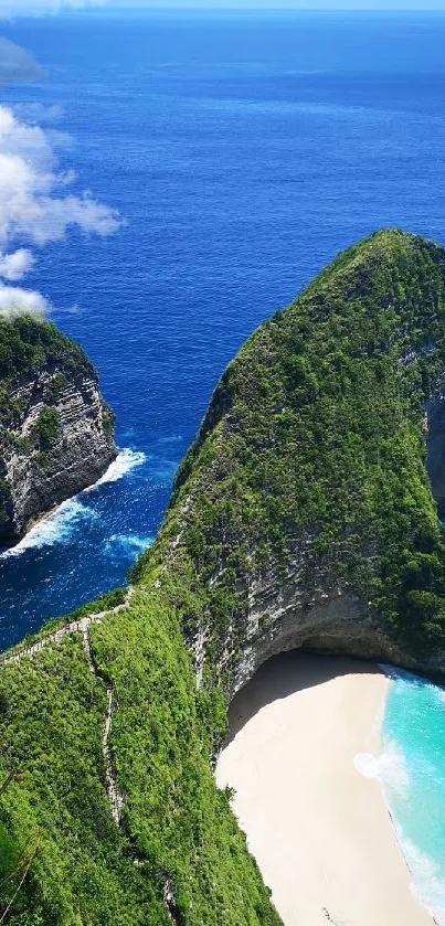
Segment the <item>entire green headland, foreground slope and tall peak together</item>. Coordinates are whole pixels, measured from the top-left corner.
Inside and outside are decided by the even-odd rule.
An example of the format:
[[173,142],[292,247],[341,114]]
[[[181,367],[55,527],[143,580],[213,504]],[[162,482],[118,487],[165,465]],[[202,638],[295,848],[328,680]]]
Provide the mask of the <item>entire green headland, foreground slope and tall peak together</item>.
[[213,783],[226,701],[293,647],[444,675],[444,380],[445,248],[401,232],[252,336],[125,600],[3,660],[6,923],[279,923]]

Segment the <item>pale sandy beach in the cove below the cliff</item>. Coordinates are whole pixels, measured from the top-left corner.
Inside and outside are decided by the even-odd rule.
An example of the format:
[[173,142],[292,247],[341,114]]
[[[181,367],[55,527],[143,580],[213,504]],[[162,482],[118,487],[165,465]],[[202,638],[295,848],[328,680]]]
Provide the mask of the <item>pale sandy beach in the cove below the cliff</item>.
[[432,926],[411,891],[379,781],[389,681],[348,659],[284,653],[235,698],[220,787],[285,926]]

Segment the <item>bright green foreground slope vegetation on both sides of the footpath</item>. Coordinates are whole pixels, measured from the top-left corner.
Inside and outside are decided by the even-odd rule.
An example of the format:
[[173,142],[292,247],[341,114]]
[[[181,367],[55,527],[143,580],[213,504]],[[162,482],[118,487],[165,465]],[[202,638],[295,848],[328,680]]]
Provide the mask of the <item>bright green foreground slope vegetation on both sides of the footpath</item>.
[[[0,780],[15,769],[0,795],[8,870],[41,833],[9,926],[168,926],[167,882],[183,926],[278,926],[227,796],[213,783],[224,702],[218,692],[195,694],[168,597],[137,593],[128,609],[92,628],[92,645],[118,705],[120,827],[105,789],[105,688],[80,635],[0,672]],[[3,907],[10,896],[0,891]]]

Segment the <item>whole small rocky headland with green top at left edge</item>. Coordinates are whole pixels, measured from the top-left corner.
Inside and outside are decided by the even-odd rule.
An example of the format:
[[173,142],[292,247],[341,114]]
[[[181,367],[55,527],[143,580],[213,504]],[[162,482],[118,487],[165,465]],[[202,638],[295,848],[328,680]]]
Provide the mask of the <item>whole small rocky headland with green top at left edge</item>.
[[0,320],[0,542],[95,482],[116,457],[114,415],[78,344],[39,318]]

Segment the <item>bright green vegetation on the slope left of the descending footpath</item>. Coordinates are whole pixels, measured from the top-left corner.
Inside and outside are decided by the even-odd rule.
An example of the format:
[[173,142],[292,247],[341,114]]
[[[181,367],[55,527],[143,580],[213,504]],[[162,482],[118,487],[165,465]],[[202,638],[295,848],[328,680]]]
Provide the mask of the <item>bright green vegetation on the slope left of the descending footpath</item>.
[[[100,749],[105,690],[80,636],[24,660],[20,672],[4,668],[0,703],[0,779],[11,765],[15,771],[0,797],[0,822],[20,852],[43,830],[8,925],[155,922],[155,888],[109,813]],[[158,911],[161,926],[168,920],[159,903]]]

